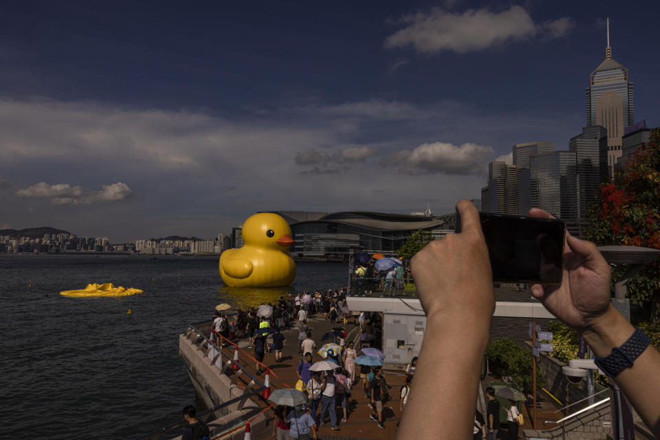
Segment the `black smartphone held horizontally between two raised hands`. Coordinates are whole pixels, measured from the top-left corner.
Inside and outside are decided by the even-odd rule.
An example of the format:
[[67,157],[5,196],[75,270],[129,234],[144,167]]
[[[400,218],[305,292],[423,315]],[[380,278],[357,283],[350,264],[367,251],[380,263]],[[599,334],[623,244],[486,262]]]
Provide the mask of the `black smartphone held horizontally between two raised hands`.
[[[494,212],[479,217],[495,283],[562,283],[564,221]],[[456,232],[461,232],[459,212]]]

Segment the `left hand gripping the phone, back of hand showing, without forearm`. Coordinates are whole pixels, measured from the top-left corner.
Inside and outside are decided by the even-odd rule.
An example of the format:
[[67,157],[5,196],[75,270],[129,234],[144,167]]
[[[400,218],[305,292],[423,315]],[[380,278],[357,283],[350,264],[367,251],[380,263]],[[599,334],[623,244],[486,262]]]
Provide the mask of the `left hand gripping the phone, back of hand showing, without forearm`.
[[493,275],[479,213],[472,202],[456,204],[461,232],[428,243],[410,260],[426,316],[489,319],[495,309]]

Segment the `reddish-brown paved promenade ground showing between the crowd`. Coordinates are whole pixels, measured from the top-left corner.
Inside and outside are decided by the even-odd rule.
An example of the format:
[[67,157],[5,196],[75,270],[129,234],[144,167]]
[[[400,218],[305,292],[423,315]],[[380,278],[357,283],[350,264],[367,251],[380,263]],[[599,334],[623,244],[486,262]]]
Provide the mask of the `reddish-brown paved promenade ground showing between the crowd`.
[[[317,317],[312,317],[307,320],[307,325],[310,325],[312,330],[312,338],[316,341],[318,347],[322,346],[320,341],[322,335],[327,333],[333,328],[331,322],[328,320],[322,319],[322,314],[317,314]],[[300,361],[300,355],[297,353],[298,349],[298,321],[294,321],[293,327],[291,330],[283,331],[285,335],[287,346],[283,350],[283,362],[275,362],[273,353],[266,353],[263,363],[266,364],[271,370],[270,374],[270,385],[274,390],[276,388],[285,388],[285,384],[290,387],[294,387],[298,381],[298,375],[296,375],[296,367]],[[358,338],[359,327],[356,327],[352,321],[349,321],[347,325],[344,325],[345,330],[349,333],[349,339]],[[270,338],[269,338],[270,340]],[[270,344],[270,342],[269,342]],[[254,355],[252,349],[248,349],[247,340],[241,340],[239,342],[239,347],[245,350],[249,355]],[[225,353],[230,353],[233,351],[233,348],[225,348]],[[360,353],[358,353],[360,355]],[[248,358],[243,352],[239,351],[239,359],[241,364],[247,365],[250,373],[255,373],[256,369],[255,363],[253,360]],[[314,362],[322,360],[321,356],[316,354],[314,355]],[[359,366],[358,366],[359,369]],[[263,379],[265,373],[261,373],[260,377]],[[275,376],[276,375],[276,376]],[[359,375],[359,370],[358,370]],[[319,439],[395,439],[397,435],[396,424],[399,421],[401,414],[399,412],[399,388],[404,384],[405,377],[403,374],[393,371],[386,371],[385,378],[390,389],[390,395],[392,400],[386,404],[384,409],[384,424],[385,429],[378,428],[375,421],[369,419],[371,410],[367,406],[369,403],[368,399],[364,397],[362,393],[362,383],[360,382],[355,386],[355,390],[349,397],[349,413],[348,421],[345,423],[339,422],[340,430],[334,431],[331,430],[331,423],[329,423],[329,416],[327,416],[328,423],[323,428],[318,429]],[[239,377],[239,382],[245,384],[243,377]],[[259,399],[260,404],[265,408],[267,404],[263,399]],[[268,402],[270,404],[270,402]],[[342,418],[342,409],[340,407],[336,408],[338,421]],[[266,412],[267,418],[269,419],[269,425],[265,430],[253,434],[252,438],[254,440],[260,439],[270,439],[272,432],[272,421],[273,421],[273,412]]]

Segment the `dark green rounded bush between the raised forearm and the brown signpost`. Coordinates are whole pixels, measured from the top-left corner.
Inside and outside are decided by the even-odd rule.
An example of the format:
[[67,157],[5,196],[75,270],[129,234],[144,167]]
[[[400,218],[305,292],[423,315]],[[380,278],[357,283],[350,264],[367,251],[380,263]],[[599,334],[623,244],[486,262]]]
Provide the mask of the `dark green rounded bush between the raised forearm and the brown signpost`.
[[[489,369],[494,375],[511,376],[525,393],[533,390],[533,360],[531,350],[526,350],[509,338],[502,338],[488,346],[486,355]],[[536,366],[536,386],[545,386],[545,375]]]

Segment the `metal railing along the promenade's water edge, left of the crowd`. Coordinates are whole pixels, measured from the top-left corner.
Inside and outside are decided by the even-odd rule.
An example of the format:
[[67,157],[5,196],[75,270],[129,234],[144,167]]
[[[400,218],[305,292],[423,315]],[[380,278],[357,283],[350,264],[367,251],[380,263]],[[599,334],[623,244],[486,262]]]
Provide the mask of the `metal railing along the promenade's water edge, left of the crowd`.
[[[245,401],[248,400],[249,397],[252,395],[258,395],[261,393],[265,388],[265,384],[263,384],[259,379],[254,377],[250,371],[246,370],[241,364],[234,362],[234,358],[232,355],[228,355],[222,351],[220,347],[217,346],[214,342],[210,341],[204,333],[198,328],[198,327],[206,327],[210,322],[208,321],[202,321],[198,322],[195,325],[189,324],[188,329],[184,332],[184,335],[186,338],[193,340],[193,344],[195,344],[200,350],[203,349],[203,347],[207,347],[207,356],[209,353],[212,354],[212,356],[208,356],[211,359],[211,364],[214,364],[216,366],[219,366],[221,373],[224,373],[228,367],[232,366],[233,364],[236,364],[238,366],[238,370],[234,373],[234,380],[238,379],[238,377],[245,373],[250,378],[250,382],[245,386],[243,389],[244,393],[238,397],[234,397],[233,399],[230,399],[228,401],[224,401],[221,404],[214,406],[213,408],[209,408],[208,410],[203,410],[202,412],[199,412],[197,414],[197,419],[206,419],[212,413],[222,410],[223,408],[235,404],[238,402],[238,408],[241,410],[243,408],[243,405],[245,405]],[[212,350],[212,351],[210,351]],[[227,361],[223,363],[223,357],[227,358]],[[218,362],[218,360],[220,362]],[[218,365],[220,363],[220,365]],[[258,388],[252,389],[254,386],[258,386]],[[239,419],[241,422],[246,421],[247,416],[245,415],[240,415],[239,417],[236,417],[236,419]],[[175,429],[182,428],[183,426],[186,426],[188,422],[186,419],[181,419],[179,421],[176,421],[174,423],[170,423],[167,426],[164,426],[163,428],[160,428],[158,430],[154,430],[152,432],[149,432],[148,434],[144,434],[141,437],[137,437],[135,440],[151,440],[151,439],[157,439],[159,438],[162,434],[165,434],[166,432],[171,432]],[[235,426],[235,423],[227,423],[224,428],[225,431],[227,430],[232,430]],[[214,432],[213,437],[218,437],[221,436],[223,432]]]

